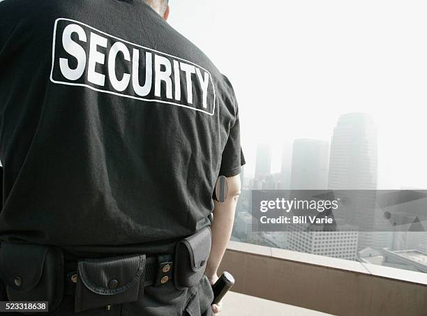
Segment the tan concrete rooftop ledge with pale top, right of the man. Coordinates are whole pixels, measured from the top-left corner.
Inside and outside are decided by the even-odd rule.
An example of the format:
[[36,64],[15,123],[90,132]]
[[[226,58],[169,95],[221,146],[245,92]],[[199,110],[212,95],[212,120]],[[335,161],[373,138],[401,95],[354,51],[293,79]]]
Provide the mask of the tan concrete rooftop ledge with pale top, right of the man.
[[332,315],[426,316],[427,274],[230,242],[233,290]]

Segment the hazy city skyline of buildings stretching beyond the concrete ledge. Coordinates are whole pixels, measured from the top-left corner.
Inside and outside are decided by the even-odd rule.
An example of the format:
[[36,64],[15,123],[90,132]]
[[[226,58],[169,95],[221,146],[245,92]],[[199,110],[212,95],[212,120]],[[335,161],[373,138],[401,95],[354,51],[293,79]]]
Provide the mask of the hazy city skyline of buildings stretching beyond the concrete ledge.
[[[234,238],[316,255],[419,270],[417,258],[424,260],[427,257],[422,253],[427,247],[427,232],[423,229],[417,232],[406,230],[411,227],[407,223],[416,222],[418,218],[407,213],[410,206],[405,202],[417,204],[417,198],[424,193],[417,194],[416,190],[389,193],[393,196],[384,193],[382,199],[388,196],[396,204],[377,201],[377,129],[368,114],[340,116],[331,143],[294,140],[292,152],[280,157],[280,172],[271,170],[271,158],[269,146],[257,144],[257,172],[254,177],[245,179],[246,190],[239,200]],[[352,190],[352,202],[344,204],[338,213],[330,214],[336,225],[329,232],[323,232],[321,227],[304,225],[290,225],[286,232],[258,232],[254,228],[258,227],[257,221],[251,215],[252,190],[278,189],[309,190],[307,192]],[[387,222],[384,206],[389,207],[387,210],[391,211],[394,223],[403,224],[402,230],[389,228],[387,231],[386,227],[383,232],[375,232],[374,227],[387,225],[384,224]],[[412,206],[412,209],[419,207]]]

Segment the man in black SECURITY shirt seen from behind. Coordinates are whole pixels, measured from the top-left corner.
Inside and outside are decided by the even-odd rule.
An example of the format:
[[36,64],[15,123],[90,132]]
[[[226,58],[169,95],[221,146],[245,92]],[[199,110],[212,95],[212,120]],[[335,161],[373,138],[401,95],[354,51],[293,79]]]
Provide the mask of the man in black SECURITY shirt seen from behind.
[[3,311],[220,310],[209,283],[240,190],[239,112],[168,15],[166,0],[0,3]]

